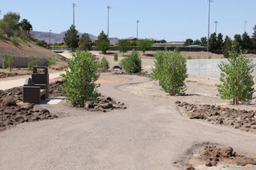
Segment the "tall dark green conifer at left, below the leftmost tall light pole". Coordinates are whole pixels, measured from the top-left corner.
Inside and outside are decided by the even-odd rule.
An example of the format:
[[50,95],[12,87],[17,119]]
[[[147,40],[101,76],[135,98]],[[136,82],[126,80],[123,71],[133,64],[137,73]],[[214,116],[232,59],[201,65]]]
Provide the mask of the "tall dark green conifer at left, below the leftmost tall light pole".
[[69,48],[72,48],[74,52],[75,48],[78,48],[79,34],[78,30],[75,29],[75,25],[71,25],[69,30],[65,33],[65,37],[63,37],[65,43]]

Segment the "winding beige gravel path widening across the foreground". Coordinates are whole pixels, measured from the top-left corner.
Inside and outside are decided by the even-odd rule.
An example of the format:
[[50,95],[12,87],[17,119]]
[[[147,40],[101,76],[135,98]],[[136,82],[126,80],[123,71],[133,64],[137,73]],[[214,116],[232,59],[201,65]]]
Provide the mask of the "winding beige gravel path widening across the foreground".
[[[118,76],[117,76],[118,77]],[[117,90],[149,81],[105,83],[105,97],[127,109],[106,113],[74,109],[65,101],[47,107],[63,118],[20,124],[0,133],[1,169],[183,169],[193,145],[214,142],[256,157],[254,133],[233,130],[181,116],[174,103]]]

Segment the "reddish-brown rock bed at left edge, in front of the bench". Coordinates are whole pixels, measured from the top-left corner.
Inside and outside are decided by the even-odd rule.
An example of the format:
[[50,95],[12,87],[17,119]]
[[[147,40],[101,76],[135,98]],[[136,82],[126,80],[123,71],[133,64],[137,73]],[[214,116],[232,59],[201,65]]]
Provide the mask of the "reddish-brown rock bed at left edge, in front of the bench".
[[0,106],[0,131],[8,127],[30,121],[42,121],[45,119],[58,118],[47,109],[33,110],[35,104],[22,103],[17,106],[12,97],[5,97]]

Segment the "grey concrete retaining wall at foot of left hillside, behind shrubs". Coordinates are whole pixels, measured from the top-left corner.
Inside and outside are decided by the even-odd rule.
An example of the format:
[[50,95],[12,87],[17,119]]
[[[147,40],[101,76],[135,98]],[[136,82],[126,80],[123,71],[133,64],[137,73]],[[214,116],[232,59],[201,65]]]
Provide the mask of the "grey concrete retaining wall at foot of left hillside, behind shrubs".
[[[2,58],[4,58],[4,55],[0,55],[0,68],[2,68]],[[40,61],[41,66],[47,64],[47,58],[38,59]],[[29,62],[29,57],[14,57],[14,67],[28,67]]]

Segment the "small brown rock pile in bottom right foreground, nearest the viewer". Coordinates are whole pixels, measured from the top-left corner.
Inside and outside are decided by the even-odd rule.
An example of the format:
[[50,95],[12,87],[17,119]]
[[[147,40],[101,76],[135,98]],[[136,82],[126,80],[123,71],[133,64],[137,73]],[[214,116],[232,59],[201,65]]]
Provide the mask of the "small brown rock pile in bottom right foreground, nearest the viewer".
[[203,145],[200,148],[200,156],[197,160],[203,160],[206,166],[251,166],[255,167],[256,160],[245,157],[233,151],[231,147],[218,147],[216,145]]

